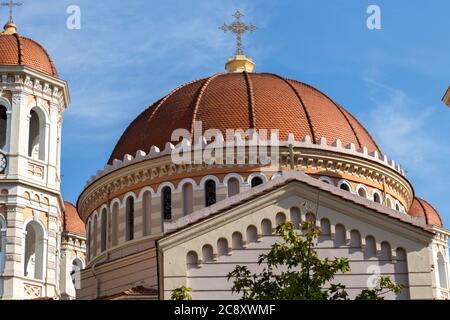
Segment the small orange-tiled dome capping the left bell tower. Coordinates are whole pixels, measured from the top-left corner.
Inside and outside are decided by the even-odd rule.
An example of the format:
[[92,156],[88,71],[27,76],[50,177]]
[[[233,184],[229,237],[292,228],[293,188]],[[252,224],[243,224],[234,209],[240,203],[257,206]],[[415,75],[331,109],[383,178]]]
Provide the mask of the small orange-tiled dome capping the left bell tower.
[[0,65],[27,66],[52,77],[58,77],[47,51],[36,41],[16,32],[12,23],[0,33]]

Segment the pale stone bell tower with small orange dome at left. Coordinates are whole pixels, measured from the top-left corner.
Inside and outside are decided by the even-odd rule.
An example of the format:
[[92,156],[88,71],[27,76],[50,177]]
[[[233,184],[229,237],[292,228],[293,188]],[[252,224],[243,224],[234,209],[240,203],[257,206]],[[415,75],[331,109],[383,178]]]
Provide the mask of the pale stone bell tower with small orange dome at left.
[[12,14],[0,48],[0,299],[59,298],[69,90],[46,50],[17,33]]

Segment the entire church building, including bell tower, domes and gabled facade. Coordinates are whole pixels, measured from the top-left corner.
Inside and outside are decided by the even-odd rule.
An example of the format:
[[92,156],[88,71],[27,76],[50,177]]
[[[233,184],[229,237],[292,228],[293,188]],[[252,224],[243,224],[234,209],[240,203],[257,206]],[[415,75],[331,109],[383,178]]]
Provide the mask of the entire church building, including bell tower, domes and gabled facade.
[[[312,221],[320,257],[345,257],[350,297],[448,299],[450,231],[342,105],[255,72],[238,11],[226,71],[162,95],[123,132],[76,207],[61,195],[68,84],[47,51],[0,33],[0,299],[239,299],[227,275],[260,271],[276,227]],[[80,271],[81,270],[81,271]]]

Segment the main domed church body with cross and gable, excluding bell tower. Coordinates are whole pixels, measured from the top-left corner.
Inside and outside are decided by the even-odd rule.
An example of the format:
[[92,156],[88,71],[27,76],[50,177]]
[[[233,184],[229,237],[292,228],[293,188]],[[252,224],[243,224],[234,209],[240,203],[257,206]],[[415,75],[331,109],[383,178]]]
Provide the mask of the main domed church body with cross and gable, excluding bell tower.
[[[237,35],[226,72],[144,109],[87,182],[77,202],[87,230],[77,298],[168,299],[187,286],[193,299],[238,299],[228,273],[260,270],[277,225],[311,220],[319,255],[349,259],[351,272],[335,282],[351,297],[385,275],[404,285],[388,299],[448,299],[450,232],[438,212],[334,99],[254,72],[242,51],[254,27],[234,17],[221,27]],[[212,141],[214,161],[205,157]]]

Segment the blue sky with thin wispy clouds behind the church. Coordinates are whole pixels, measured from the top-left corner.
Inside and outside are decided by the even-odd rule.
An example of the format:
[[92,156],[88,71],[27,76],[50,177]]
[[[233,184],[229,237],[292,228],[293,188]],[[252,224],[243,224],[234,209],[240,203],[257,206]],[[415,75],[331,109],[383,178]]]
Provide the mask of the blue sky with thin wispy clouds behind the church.
[[[448,0],[22,2],[19,32],[48,49],[70,86],[62,150],[69,201],[146,106],[223,70],[234,39],[218,27],[239,8],[258,27],[245,37],[257,71],[310,83],[345,106],[450,226],[450,109],[441,103],[450,84]],[[80,30],[66,28],[73,4]],[[366,27],[371,4],[381,8],[381,30]]]

